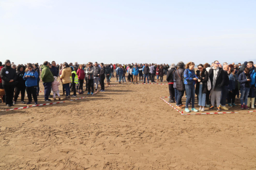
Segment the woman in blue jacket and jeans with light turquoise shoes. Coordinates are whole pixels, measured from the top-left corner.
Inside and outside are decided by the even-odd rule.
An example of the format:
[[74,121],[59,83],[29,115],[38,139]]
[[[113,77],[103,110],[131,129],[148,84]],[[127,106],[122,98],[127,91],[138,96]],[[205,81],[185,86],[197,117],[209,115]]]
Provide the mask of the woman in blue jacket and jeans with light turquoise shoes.
[[[185,89],[187,92],[187,99],[186,99],[186,112],[190,112],[189,110],[189,102],[191,99],[192,109],[191,111],[198,111],[195,109],[195,81],[197,81],[198,77],[195,75],[194,71],[195,63],[189,62],[186,64],[186,70],[184,71],[184,84]],[[200,79],[198,79],[200,82]]]

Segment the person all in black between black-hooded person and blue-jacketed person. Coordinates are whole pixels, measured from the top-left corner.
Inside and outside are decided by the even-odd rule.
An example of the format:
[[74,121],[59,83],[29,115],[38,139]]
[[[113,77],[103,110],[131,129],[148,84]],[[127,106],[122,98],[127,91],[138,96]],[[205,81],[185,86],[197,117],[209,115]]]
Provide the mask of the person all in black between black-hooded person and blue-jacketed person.
[[23,79],[23,76],[25,74],[24,66],[19,65],[17,68],[17,81],[15,82],[15,95],[14,95],[14,105],[17,102],[17,99],[19,97],[19,94],[21,93],[21,102],[25,104],[24,98],[25,98],[25,91],[26,91],[26,85],[25,80]]

